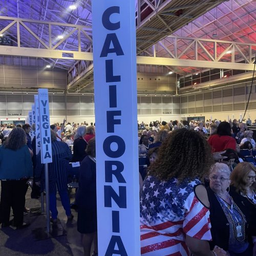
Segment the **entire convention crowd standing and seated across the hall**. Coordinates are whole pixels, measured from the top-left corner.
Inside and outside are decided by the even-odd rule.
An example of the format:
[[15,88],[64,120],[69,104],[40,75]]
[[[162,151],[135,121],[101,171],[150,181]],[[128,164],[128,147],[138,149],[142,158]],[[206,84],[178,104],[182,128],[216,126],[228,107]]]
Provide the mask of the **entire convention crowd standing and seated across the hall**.
[[[141,255],[256,256],[256,143],[247,121],[181,120],[138,123]],[[26,228],[25,195],[45,189],[44,167],[29,124],[2,125],[0,223]],[[97,131],[96,131],[97,133]],[[95,124],[51,125],[50,211],[56,194],[67,220],[77,210],[84,255],[97,255]],[[13,161],[15,159],[15,161]],[[80,162],[75,202],[67,184],[70,162]],[[10,210],[13,220],[10,221]],[[129,232],[129,230],[127,230]]]

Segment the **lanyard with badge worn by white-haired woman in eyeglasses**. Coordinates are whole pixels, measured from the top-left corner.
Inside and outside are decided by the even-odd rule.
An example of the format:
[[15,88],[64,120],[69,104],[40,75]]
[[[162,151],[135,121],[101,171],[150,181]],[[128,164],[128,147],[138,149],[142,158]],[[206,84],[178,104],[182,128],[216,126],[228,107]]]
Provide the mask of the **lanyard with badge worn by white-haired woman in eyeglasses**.
[[[234,231],[234,236],[236,237],[236,239],[239,241],[239,242],[243,242],[245,241],[245,223],[246,223],[246,220],[244,218],[244,215],[242,213],[242,211],[240,210],[240,208],[237,206],[236,203],[234,203],[232,197],[230,197],[229,195],[229,198],[231,200],[231,205],[229,205],[220,195],[216,194],[216,196],[220,199],[220,201],[222,202],[222,205],[225,206],[228,210],[228,215],[230,217],[230,220],[232,221],[232,226],[233,226],[233,231]],[[239,223],[239,220],[237,219],[236,215],[233,214],[233,207],[236,207],[236,209],[238,210],[238,213],[239,215],[241,216],[242,218],[242,223],[240,224]],[[232,216],[233,214],[233,216]],[[233,217],[236,219],[236,221],[233,219]],[[243,227],[243,229],[242,229]]]

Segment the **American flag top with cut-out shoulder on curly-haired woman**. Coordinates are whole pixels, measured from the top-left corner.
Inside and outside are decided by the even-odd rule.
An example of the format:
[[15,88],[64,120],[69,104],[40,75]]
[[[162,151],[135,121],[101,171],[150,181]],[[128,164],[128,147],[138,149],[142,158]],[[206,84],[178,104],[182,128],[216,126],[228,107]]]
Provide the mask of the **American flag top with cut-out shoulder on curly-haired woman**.
[[189,255],[185,235],[211,240],[209,209],[199,202],[198,179],[144,180],[140,200],[141,255]]

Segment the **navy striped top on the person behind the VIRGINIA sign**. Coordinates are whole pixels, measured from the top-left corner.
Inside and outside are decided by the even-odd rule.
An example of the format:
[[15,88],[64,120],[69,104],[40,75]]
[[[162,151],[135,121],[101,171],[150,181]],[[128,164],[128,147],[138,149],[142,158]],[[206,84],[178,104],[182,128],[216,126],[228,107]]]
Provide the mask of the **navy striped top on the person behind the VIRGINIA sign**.
[[[71,150],[65,142],[52,141],[52,163],[48,164],[50,193],[55,193],[56,189],[58,189],[58,191],[67,189],[67,177],[71,158]],[[41,189],[44,189],[45,172],[44,165],[41,164],[40,152],[37,155],[36,160],[35,178],[41,178]]]

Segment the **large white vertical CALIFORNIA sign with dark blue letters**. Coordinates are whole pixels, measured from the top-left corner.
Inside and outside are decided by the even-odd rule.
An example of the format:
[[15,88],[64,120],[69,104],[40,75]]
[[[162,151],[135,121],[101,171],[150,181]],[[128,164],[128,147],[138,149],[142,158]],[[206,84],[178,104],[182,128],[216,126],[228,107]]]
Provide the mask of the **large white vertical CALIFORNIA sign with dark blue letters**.
[[135,3],[93,0],[92,14],[98,250],[140,255]]

